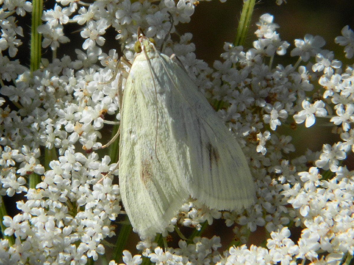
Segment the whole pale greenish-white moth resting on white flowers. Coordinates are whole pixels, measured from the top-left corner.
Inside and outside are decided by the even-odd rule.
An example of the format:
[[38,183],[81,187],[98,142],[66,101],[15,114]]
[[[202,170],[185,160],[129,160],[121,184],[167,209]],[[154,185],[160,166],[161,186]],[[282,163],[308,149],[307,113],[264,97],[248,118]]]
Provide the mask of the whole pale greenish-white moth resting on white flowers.
[[217,210],[254,202],[240,146],[177,63],[140,36],[121,108],[119,183],[133,228],[163,232],[192,196]]

